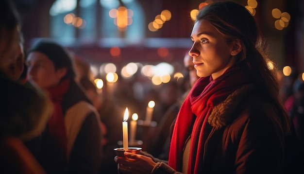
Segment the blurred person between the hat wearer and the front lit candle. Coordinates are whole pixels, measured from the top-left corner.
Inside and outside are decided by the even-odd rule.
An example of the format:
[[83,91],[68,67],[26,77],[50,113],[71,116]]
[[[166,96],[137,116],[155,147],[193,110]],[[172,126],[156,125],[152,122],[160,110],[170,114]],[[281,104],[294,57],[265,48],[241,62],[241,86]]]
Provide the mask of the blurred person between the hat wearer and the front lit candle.
[[82,78],[80,84],[97,109],[104,131],[100,174],[115,174],[117,173],[117,163],[113,160],[113,157],[116,156],[113,149],[118,147],[118,141],[122,139],[121,122],[124,110],[109,98],[98,93],[95,84],[88,78]]

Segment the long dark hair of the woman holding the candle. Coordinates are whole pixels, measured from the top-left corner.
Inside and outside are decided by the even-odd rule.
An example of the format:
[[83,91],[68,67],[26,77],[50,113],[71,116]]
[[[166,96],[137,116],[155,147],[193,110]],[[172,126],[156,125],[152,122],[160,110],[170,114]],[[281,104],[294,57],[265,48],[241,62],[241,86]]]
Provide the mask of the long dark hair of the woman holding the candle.
[[[275,64],[270,60],[265,38],[260,34],[252,14],[242,5],[231,1],[214,2],[203,7],[196,21],[207,20],[231,43],[239,39],[242,51],[237,54],[237,61],[246,61],[250,78],[256,87],[278,106],[282,112],[280,119],[283,130],[289,131],[289,117],[279,99],[279,84]],[[273,65],[270,69],[269,63]]]

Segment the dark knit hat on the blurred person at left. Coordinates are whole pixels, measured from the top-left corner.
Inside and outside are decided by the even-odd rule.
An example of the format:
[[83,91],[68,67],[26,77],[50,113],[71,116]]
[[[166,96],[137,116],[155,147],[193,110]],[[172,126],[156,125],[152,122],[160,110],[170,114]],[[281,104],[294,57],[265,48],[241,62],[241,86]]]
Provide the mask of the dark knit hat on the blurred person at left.
[[66,67],[68,77],[74,77],[75,72],[72,67],[72,60],[64,47],[50,40],[40,40],[28,51],[41,52],[45,54],[55,66],[55,69]]

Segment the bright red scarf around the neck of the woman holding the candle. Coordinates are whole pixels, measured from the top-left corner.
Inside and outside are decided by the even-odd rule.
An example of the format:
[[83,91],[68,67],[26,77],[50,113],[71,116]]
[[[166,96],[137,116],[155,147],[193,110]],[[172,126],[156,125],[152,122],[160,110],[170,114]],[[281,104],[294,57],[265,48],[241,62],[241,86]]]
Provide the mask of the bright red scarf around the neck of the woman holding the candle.
[[244,62],[237,64],[215,80],[211,76],[200,78],[192,87],[181,106],[174,126],[169,152],[170,167],[181,172],[183,149],[186,139],[191,134],[187,173],[202,173],[204,144],[212,129],[208,117],[217,104],[249,82],[246,68]]

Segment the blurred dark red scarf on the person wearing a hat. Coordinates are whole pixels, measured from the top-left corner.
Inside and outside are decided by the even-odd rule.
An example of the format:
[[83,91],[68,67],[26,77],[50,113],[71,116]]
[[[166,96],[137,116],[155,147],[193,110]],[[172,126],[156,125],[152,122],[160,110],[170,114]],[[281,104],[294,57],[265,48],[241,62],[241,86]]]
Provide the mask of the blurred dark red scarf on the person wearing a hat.
[[63,96],[67,93],[70,80],[62,81],[57,87],[48,88],[48,92],[53,103],[53,115],[48,122],[48,136],[49,136],[49,159],[52,162],[66,163],[67,162],[67,133],[65,127],[65,119],[61,102]]

